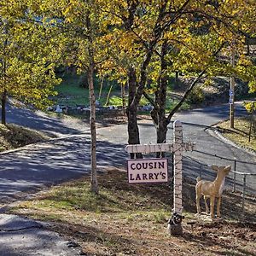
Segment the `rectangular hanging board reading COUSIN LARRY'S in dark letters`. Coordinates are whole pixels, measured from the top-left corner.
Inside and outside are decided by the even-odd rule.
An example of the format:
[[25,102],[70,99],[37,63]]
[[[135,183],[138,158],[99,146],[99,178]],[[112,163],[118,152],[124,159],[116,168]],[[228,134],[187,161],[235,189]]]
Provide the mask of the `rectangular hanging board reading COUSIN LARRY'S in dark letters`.
[[129,183],[163,183],[168,181],[168,160],[128,160]]

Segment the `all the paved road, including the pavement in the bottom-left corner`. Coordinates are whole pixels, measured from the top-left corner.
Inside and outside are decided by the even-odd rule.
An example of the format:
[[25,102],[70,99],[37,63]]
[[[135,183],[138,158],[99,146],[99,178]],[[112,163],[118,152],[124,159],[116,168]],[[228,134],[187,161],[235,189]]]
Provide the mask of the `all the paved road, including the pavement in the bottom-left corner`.
[[[202,161],[206,164],[226,165],[224,160],[209,156],[218,154],[237,160],[256,161],[251,154],[221,142],[205,131],[206,125],[228,118],[228,106],[200,108],[178,113],[174,119],[183,122],[184,141],[196,143],[198,152],[185,155],[184,174],[195,178],[200,172]],[[242,113],[241,108],[236,108]],[[26,109],[10,108],[8,121],[19,125],[47,131],[59,137],[47,143],[26,146],[13,152],[1,154],[0,205],[22,199],[27,193],[37,191],[49,184],[80,177],[90,170],[90,131],[88,124],[72,119],[55,119],[44,113],[33,113]],[[154,125],[149,121],[139,122],[142,143],[154,143]],[[115,125],[97,130],[98,166],[125,166],[128,155],[126,125]],[[168,141],[172,141],[172,125],[168,130]],[[239,170],[256,172],[255,166],[237,165]],[[204,166],[203,175],[212,176]],[[252,181],[250,180],[253,185]],[[255,184],[256,187],[256,184]],[[4,210],[4,208],[2,208]],[[0,209],[1,211],[1,209]],[[2,211],[3,212],[3,211]],[[41,224],[0,214],[0,255],[79,255],[79,248],[70,247],[54,232],[49,232]],[[72,243],[71,243],[72,245]]]

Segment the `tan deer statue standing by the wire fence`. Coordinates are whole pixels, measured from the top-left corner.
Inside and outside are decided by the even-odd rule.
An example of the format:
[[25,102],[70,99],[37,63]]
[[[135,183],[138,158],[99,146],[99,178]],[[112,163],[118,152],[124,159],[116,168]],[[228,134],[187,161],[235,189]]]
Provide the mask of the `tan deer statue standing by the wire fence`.
[[204,196],[206,204],[206,212],[209,213],[207,205],[207,198],[210,198],[211,218],[214,218],[214,203],[215,198],[218,198],[217,217],[220,217],[220,201],[224,189],[225,177],[229,174],[231,166],[212,166],[212,170],[217,172],[217,177],[213,182],[201,180],[201,177],[196,178],[195,192],[196,192],[196,209],[197,213],[201,213],[200,199]]

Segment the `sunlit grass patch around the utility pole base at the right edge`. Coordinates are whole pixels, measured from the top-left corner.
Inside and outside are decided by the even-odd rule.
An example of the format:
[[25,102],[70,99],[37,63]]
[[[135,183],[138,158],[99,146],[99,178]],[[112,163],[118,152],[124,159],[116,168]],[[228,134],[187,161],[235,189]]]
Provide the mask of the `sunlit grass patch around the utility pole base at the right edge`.
[[250,118],[237,118],[234,126],[234,129],[230,128],[230,121],[218,124],[218,128],[221,128],[221,133],[224,137],[242,147],[256,151],[256,131],[252,132],[251,141],[249,142]]

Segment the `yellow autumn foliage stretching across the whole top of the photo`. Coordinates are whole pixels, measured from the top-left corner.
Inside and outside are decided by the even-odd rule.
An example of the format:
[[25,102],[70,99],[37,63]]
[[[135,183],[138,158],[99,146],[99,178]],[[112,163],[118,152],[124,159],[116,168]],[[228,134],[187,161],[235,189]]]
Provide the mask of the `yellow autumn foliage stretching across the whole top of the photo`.
[[[170,73],[173,70],[195,73],[209,66],[210,74],[228,70],[221,69],[211,56],[221,43],[232,42],[233,33],[237,28],[253,30],[250,17],[255,13],[253,2],[245,4],[245,1],[241,0],[225,0],[216,7],[211,4],[214,1],[190,1],[181,15],[177,10],[185,2],[4,1],[1,3],[3,8],[0,9],[0,17],[9,20],[11,26],[9,44],[5,48],[3,42],[7,36],[4,33],[0,35],[0,59],[2,60],[3,56],[8,59],[10,81],[20,84],[20,94],[25,95],[30,91],[37,99],[42,99],[43,94],[48,95],[50,84],[57,83],[53,66],[45,66],[50,62],[60,62],[74,65],[84,71],[90,61],[89,47],[93,49],[93,61],[99,73],[108,73],[112,78],[119,79],[120,83],[126,83],[125,76],[129,67],[134,67],[139,74],[148,45],[154,41],[155,27],[162,28],[166,26],[166,20],[169,20],[171,26],[166,26],[160,33],[148,65],[148,79],[152,84],[157,84],[160,76],[159,54],[164,40],[169,44],[166,59]],[[135,3],[135,6],[131,6],[131,3]],[[160,8],[165,4],[166,12],[158,20]],[[30,8],[24,9],[23,6]],[[132,8],[135,9],[134,12],[131,12]],[[17,17],[26,15],[24,10],[31,12],[30,18],[33,14],[42,17],[40,21],[43,21],[44,25],[32,26],[29,22],[17,22]],[[90,27],[86,23],[89,13]],[[172,20],[172,17],[176,19]],[[239,36],[237,41],[241,42]],[[243,42],[237,46],[237,51],[241,51],[242,47]],[[235,71],[243,76],[251,73],[252,77],[253,70],[249,69],[251,65],[245,56],[241,56]],[[23,75],[20,75],[21,73]],[[38,84],[41,84],[41,87]],[[252,88],[253,86],[255,85],[252,84]]]

